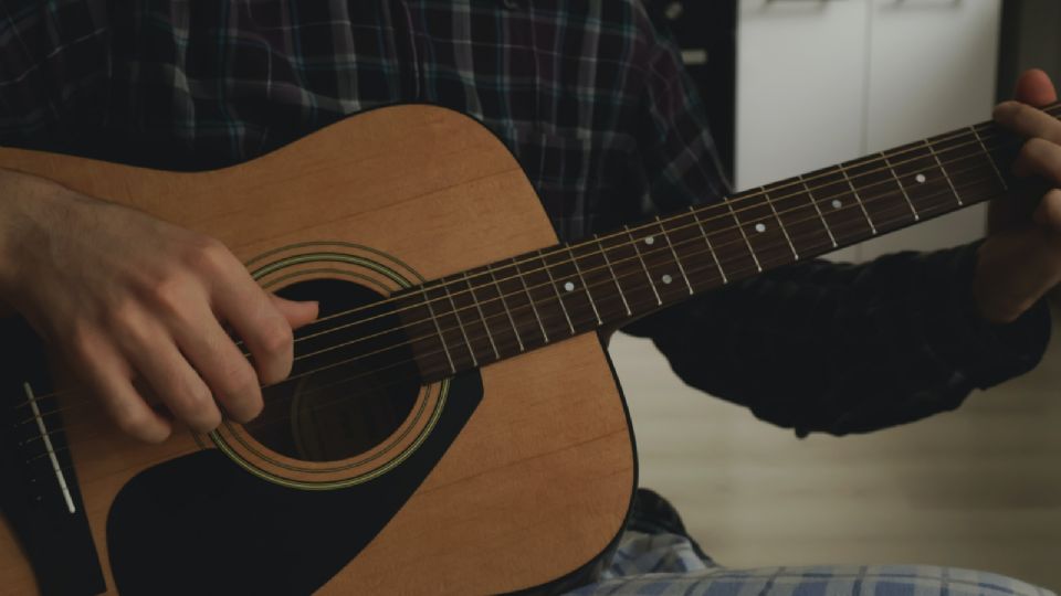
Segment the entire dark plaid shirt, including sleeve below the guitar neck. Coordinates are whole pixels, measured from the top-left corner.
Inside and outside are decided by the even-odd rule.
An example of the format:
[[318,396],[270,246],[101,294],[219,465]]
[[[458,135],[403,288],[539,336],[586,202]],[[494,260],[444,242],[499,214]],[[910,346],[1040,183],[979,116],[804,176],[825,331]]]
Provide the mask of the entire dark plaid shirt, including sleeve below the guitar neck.
[[[490,127],[565,241],[727,188],[677,52],[634,0],[0,0],[0,143],[214,168],[396,102]],[[805,263],[630,331],[763,418],[870,430],[1039,361],[1044,305],[984,324],[974,264],[975,245]]]

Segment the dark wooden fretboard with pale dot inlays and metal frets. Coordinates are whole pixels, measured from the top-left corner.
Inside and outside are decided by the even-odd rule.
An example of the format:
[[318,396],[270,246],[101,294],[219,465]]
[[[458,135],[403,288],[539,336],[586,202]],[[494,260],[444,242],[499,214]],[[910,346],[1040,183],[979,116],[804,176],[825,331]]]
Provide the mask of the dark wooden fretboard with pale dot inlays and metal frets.
[[983,123],[518,255],[407,292],[402,323],[439,380],[1005,195],[1017,146]]

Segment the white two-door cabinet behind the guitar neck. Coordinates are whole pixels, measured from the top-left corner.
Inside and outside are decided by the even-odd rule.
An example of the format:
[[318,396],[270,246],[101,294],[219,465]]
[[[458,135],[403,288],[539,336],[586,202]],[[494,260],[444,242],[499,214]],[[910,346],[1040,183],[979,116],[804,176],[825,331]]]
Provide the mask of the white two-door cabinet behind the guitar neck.
[[[748,189],[986,120],[1000,0],[743,0],[736,184]],[[833,255],[977,238],[974,206]]]

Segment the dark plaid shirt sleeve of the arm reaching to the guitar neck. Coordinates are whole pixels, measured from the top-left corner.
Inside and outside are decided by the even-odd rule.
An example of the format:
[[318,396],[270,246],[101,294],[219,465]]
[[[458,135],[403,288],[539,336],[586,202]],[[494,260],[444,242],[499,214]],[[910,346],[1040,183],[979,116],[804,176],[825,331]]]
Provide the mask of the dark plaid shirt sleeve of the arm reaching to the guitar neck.
[[[717,201],[728,189],[677,52],[664,35],[652,35],[638,137],[649,177],[644,215]],[[693,298],[626,331],[651,338],[689,385],[800,436],[907,423],[1031,370],[1046,350],[1043,301],[1005,326],[976,312],[978,246],[862,265],[803,262]]]

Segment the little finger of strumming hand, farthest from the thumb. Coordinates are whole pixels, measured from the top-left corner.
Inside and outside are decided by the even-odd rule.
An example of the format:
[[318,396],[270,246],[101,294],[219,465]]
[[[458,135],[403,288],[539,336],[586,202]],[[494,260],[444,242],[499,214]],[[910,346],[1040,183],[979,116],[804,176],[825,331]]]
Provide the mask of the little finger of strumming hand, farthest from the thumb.
[[172,432],[169,421],[147,405],[133,386],[132,370],[113,348],[98,341],[75,350],[80,353],[71,360],[74,372],[123,433],[146,443],[169,438]]

